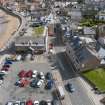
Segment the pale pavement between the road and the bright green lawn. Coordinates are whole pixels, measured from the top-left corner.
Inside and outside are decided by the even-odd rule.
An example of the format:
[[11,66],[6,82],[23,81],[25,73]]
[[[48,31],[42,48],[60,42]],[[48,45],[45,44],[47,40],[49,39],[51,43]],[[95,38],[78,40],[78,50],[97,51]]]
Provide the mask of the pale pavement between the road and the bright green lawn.
[[100,99],[103,98],[102,94],[95,94],[94,91],[92,91],[92,87],[81,77],[78,77],[78,81],[80,81],[82,86],[86,89],[87,95],[90,97],[94,105],[103,105],[102,103],[100,103]]

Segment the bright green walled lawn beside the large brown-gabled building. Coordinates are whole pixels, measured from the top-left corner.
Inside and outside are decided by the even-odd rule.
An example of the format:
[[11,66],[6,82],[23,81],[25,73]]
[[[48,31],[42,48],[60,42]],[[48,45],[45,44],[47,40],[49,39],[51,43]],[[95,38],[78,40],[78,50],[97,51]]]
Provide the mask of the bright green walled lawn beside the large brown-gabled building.
[[98,87],[100,91],[105,91],[105,69],[98,68],[92,71],[84,72],[83,76]]

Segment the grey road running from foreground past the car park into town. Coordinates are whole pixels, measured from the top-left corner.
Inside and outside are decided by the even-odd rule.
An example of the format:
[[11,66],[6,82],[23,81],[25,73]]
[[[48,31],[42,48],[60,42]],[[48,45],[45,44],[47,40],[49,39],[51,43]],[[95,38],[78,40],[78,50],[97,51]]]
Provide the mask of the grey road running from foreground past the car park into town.
[[68,58],[65,55],[65,46],[62,44],[61,36],[60,28],[57,27],[55,41],[56,63],[59,65],[59,71],[64,84],[67,84],[68,81],[70,81],[76,89],[74,93],[68,92],[69,99],[71,100],[72,105],[94,105],[90,97],[88,97],[85,87],[79,81],[78,76],[75,75],[73,65],[70,62],[68,63]]

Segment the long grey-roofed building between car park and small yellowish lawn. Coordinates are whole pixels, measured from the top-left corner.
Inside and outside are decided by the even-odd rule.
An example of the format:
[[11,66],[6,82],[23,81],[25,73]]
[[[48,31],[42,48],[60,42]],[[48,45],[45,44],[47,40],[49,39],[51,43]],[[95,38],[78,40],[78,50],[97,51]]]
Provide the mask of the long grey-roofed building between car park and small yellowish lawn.
[[14,42],[14,48],[16,52],[44,52],[46,50],[45,38],[32,36],[18,37]]

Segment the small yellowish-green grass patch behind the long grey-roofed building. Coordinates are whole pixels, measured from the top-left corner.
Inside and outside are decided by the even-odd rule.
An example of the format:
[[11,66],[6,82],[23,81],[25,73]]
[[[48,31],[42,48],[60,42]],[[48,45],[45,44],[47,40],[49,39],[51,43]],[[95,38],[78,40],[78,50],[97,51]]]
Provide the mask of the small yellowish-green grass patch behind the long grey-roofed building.
[[33,29],[33,36],[40,37],[44,32],[44,26],[35,27]]

